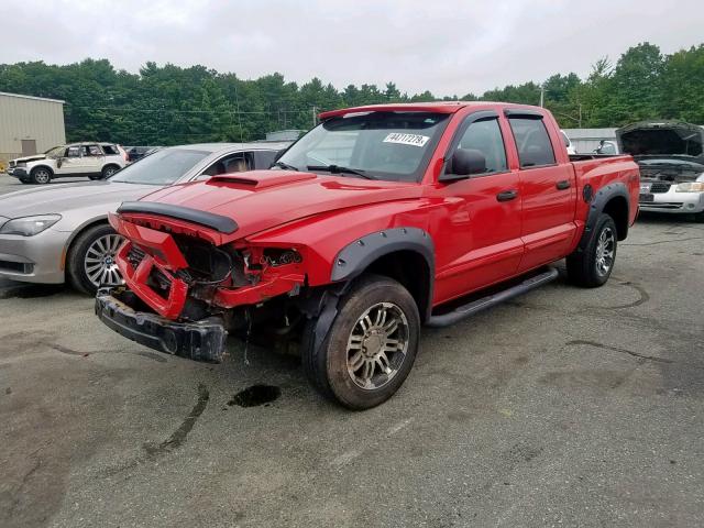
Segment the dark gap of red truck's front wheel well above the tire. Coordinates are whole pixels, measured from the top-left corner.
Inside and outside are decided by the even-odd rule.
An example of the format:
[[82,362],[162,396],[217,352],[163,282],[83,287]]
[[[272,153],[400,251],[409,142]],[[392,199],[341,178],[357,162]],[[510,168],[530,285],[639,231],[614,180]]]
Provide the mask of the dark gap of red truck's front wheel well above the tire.
[[420,320],[430,316],[430,267],[420,253],[410,250],[388,253],[370,264],[365,272],[399,282],[415,299]]

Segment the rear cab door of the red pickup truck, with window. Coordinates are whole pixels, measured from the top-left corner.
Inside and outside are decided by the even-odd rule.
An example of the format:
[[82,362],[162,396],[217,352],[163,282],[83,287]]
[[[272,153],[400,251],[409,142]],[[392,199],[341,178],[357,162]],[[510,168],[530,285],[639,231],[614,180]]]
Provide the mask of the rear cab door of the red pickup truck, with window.
[[526,252],[519,272],[565,256],[574,238],[576,183],[572,164],[556,155],[556,141],[542,113],[508,110],[520,164],[521,238]]

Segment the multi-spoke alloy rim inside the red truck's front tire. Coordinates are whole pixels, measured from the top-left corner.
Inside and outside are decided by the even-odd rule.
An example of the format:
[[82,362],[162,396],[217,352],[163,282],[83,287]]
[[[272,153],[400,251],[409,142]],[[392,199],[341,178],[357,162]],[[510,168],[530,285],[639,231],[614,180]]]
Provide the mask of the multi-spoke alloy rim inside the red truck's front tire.
[[348,339],[348,373],[355,385],[371,391],[389,383],[404,364],[409,336],[406,315],[393,302],[362,314]]

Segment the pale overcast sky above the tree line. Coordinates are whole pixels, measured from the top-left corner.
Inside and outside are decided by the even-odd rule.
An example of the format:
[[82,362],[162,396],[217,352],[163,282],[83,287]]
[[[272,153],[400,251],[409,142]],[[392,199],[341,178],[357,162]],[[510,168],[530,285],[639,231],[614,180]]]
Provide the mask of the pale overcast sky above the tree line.
[[0,64],[108,58],[464,96],[704,42],[702,0],[0,0]]

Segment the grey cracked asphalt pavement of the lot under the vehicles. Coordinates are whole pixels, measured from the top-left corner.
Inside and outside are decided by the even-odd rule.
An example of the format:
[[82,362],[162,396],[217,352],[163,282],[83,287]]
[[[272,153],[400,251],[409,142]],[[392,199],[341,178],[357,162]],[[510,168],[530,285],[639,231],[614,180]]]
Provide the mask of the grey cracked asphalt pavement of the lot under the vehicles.
[[606,286],[425,330],[364,413],[295,356],[166,356],[0,280],[0,526],[704,526],[703,241],[640,219]]

